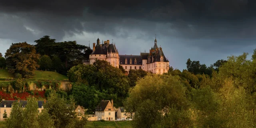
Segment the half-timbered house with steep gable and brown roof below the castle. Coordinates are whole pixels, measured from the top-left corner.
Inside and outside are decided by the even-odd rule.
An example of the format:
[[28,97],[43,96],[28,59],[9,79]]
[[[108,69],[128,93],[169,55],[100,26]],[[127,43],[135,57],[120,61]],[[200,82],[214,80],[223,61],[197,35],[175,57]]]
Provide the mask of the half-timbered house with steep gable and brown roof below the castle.
[[115,109],[113,106],[113,100],[102,100],[100,104],[95,109],[95,116],[98,120],[115,120]]

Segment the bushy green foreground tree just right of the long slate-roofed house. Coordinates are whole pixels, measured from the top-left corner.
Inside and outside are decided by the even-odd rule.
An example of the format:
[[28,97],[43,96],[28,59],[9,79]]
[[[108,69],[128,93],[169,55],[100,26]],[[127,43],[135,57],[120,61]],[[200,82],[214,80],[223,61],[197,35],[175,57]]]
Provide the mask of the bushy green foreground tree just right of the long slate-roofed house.
[[48,102],[44,105],[44,109],[48,110],[56,128],[65,128],[76,118],[74,104],[74,100],[66,100],[53,91],[48,96]]

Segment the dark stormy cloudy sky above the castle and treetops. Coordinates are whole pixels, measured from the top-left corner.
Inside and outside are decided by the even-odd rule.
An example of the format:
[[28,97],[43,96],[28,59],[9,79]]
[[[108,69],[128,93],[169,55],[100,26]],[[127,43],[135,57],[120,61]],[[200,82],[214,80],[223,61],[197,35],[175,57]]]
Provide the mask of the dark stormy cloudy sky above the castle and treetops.
[[[54,1],[54,2],[53,2]],[[65,1],[65,2],[64,2]],[[88,46],[97,38],[119,54],[162,46],[170,65],[210,66],[256,48],[256,0],[1,0],[0,52],[48,35]]]

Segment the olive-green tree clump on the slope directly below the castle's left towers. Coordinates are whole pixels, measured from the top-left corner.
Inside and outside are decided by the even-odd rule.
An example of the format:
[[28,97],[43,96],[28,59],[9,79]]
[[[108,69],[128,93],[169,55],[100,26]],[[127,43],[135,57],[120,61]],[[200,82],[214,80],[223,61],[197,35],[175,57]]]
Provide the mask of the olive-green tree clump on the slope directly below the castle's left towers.
[[96,60],[93,65],[74,66],[68,71],[68,78],[71,82],[95,86],[118,96],[126,96],[129,90],[127,76],[104,60]]

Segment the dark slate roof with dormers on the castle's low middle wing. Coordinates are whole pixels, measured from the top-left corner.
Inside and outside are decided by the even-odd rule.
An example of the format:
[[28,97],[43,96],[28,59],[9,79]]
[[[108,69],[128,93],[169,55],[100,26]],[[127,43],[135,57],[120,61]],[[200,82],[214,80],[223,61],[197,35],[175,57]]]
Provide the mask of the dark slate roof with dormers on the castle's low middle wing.
[[142,58],[140,55],[119,55],[119,64],[125,64],[125,59],[127,59],[127,64],[130,64],[130,59],[132,58],[132,64],[135,64],[135,59],[137,61],[136,65],[142,65]]

